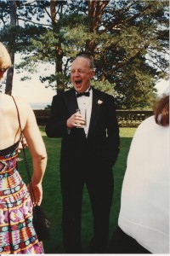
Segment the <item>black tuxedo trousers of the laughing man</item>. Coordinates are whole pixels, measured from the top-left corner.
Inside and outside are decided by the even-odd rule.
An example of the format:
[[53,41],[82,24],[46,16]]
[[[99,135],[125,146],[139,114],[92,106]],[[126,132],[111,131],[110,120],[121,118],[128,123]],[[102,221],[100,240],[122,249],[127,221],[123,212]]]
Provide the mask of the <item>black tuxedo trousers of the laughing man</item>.
[[90,242],[89,253],[105,253],[114,187],[112,170],[97,173],[79,170],[77,175],[61,172],[65,253],[82,253],[81,222],[84,184],[88,189],[94,219],[94,237]]

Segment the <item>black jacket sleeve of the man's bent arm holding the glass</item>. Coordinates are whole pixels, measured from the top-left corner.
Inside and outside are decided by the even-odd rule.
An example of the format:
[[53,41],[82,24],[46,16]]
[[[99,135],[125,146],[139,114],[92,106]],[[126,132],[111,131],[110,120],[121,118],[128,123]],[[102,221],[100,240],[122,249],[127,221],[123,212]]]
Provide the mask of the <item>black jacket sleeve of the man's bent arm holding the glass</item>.
[[48,137],[63,137],[68,134],[66,121],[65,105],[63,104],[62,95],[54,96],[50,117],[48,119],[45,131]]

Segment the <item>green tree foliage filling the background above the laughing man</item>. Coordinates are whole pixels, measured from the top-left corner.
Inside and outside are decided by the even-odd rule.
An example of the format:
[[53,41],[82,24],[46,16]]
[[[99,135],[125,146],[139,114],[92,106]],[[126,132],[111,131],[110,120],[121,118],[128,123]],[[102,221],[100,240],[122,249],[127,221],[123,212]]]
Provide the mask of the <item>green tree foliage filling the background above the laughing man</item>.
[[9,1],[0,2],[0,40],[12,34],[11,50],[27,54],[20,68],[55,65],[40,79],[59,93],[71,85],[71,60],[85,52],[94,59],[94,84],[116,97],[117,108],[150,106],[156,81],[167,78],[167,0],[15,2],[15,28],[8,26]]

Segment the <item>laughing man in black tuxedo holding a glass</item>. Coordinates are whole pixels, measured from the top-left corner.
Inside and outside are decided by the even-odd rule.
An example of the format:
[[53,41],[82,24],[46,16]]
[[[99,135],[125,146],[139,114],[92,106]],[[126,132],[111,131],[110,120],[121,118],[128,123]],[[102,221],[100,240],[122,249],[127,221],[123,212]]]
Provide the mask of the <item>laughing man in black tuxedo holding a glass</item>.
[[[104,253],[114,181],[112,166],[119,153],[114,98],[94,89],[94,64],[79,55],[71,64],[74,88],[54,96],[46,125],[48,137],[61,137],[60,182],[65,253],[82,253],[82,194],[87,186],[94,237],[88,253]],[[78,110],[77,110],[78,109]]]

